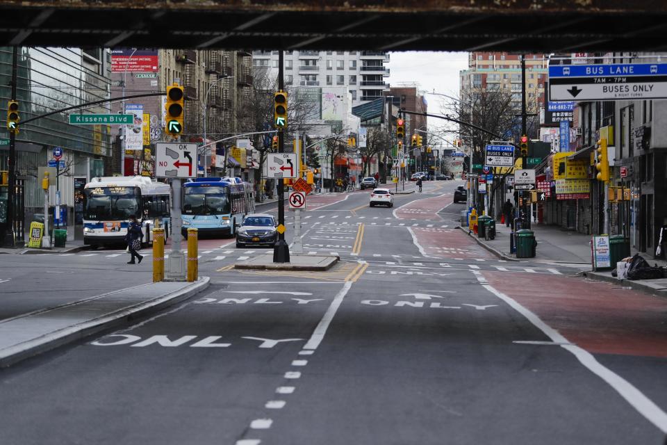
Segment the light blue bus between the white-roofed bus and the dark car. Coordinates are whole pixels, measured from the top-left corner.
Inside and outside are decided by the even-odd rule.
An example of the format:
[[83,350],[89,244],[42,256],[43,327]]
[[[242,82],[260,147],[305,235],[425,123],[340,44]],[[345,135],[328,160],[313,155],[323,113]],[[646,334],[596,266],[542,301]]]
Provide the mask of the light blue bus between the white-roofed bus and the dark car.
[[190,227],[199,234],[236,235],[236,224],[255,211],[252,184],[240,178],[197,178],[183,184],[183,236]]

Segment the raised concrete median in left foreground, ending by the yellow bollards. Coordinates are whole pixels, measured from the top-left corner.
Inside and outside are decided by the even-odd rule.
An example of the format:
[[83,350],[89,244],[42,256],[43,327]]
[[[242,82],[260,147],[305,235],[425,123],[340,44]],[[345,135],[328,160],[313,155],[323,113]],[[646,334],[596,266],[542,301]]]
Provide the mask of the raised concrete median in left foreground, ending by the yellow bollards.
[[197,282],[159,282],[85,298],[68,305],[40,309],[0,321],[0,366],[122,325],[186,300],[206,289],[208,277]]

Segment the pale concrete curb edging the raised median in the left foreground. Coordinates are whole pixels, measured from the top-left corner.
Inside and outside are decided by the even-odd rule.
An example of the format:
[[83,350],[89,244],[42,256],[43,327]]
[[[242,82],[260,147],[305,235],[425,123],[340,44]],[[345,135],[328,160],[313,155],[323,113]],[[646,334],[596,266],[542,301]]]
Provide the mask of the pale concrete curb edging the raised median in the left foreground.
[[[90,337],[92,334],[97,334],[97,332],[107,330],[110,327],[126,325],[127,322],[132,321],[135,318],[158,312],[160,309],[164,309],[165,307],[169,307],[183,300],[187,300],[195,294],[204,291],[204,289],[208,288],[210,284],[211,279],[209,277],[199,277],[197,282],[194,282],[190,284],[190,286],[186,286],[179,291],[168,293],[165,296],[160,296],[154,298],[153,300],[138,303],[133,307],[122,309],[117,312],[105,314],[99,318],[93,318],[92,320],[85,321],[79,325],[74,325],[62,330],[51,332],[50,334],[47,334],[43,337],[25,341],[24,343],[19,343],[18,345],[3,351],[2,355],[0,356],[0,367],[4,368],[24,359],[34,357],[40,353],[53,350],[67,343],[72,343],[74,341],[84,339],[85,337]],[[117,292],[118,291],[113,291],[111,293]],[[99,296],[93,298],[99,298]],[[68,305],[64,306],[71,306],[72,304],[75,303],[69,303]],[[49,310],[56,308],[57,307],[51,307]]]

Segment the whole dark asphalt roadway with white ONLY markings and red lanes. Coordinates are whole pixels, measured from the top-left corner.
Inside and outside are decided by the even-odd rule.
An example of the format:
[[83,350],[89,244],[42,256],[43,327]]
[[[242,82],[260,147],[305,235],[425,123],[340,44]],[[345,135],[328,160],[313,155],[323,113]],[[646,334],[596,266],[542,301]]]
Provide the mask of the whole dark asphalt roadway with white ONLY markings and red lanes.
[[[202,240],[204,293],[0,371],[0,443],[664,444],[667,304],[498,260],[456,229],[459,184],[309,198],[327,272]],[[122,251],[5,257],[2,318],[150,280]]]

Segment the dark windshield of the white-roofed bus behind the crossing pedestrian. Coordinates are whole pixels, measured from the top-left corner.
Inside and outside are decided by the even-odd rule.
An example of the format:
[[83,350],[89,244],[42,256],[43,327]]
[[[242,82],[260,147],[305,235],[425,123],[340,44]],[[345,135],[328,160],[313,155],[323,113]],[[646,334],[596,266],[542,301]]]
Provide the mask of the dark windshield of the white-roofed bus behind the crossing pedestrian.
[[[98,189],[85,191],[85,209],[83,219],[86,220],[126,220],[130,215],[140,216],[139,197],[131,188],[124,193],[110,194],[108,189],[96,193]],[[129,193],[127,193],[129,192]]]

